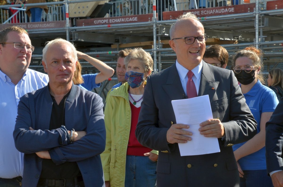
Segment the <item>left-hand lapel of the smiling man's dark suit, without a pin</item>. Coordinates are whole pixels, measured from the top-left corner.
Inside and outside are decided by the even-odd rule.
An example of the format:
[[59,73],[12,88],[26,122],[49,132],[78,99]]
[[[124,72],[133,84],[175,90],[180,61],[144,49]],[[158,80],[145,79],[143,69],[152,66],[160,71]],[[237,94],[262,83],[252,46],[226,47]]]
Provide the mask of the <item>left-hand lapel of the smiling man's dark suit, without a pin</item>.
[[170,67],[168,74],[169,75],[166,84],[162,85],[162,88],[169,95],[171,100],[184,99],[186,94],[184,93],[180,81],[176,63]]

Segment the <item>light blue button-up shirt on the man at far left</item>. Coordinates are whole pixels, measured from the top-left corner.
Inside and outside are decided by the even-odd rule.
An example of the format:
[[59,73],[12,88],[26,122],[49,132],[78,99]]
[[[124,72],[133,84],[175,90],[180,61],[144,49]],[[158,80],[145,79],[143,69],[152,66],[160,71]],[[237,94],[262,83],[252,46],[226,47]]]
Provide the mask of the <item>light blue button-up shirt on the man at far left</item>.
[[23,153],[14,143],[13,131],[20,97],[47,85],[46,74],[27,69],[17,85],[0,70],[0,178],[23,176]]

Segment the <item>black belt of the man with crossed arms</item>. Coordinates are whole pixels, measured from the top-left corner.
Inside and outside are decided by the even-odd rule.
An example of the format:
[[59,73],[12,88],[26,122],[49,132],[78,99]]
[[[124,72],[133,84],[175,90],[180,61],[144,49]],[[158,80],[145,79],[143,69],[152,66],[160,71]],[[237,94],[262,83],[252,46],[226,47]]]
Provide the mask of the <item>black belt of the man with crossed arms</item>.
[[75,179],[77,179],[77,182],[81,182],[83,181],[83,176],[72,179],[39,179],[37,185],[45,186],[47,184],[48,186],[65,187],[66,185],[75,184]]

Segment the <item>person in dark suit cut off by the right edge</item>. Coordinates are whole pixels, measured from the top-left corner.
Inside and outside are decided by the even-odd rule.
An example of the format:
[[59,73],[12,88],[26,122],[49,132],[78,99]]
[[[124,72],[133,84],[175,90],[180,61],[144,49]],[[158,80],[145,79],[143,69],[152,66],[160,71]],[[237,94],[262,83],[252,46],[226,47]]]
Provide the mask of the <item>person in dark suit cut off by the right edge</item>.
[[266,123],[265,149],[267,173],[273,186],[283,186],[283,97]]

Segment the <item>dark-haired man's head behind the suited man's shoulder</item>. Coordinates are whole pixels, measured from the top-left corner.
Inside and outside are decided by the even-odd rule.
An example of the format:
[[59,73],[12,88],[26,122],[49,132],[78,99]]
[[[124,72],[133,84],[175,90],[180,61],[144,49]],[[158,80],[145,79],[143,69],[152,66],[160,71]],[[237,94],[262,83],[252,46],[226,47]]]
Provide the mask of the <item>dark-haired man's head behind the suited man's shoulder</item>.
[[221,45],[210,45],[205,49],[202,60],[219,68],[226,68],[228,63],[228,52]]

